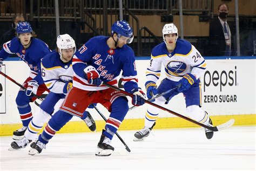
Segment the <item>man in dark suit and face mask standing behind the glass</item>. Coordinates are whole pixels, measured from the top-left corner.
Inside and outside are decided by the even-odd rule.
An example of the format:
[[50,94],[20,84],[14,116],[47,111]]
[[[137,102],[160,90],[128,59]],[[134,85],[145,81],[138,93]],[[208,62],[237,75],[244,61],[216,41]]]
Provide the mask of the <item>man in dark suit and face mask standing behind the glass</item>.
[[227,16],[227,4],[220,4],[218,18],[214,18],[210,22],[208,56],[230,56],[232,53],[232,33]]

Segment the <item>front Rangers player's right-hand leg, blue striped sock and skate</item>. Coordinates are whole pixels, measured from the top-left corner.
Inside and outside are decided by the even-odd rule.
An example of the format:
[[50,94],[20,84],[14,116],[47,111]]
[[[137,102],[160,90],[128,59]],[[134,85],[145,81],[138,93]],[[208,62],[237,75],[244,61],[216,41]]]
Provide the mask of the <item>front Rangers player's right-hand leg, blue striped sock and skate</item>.
[[[109,91],[113,90],[109,89]],[[111,111],[111,113],[109,118],[106,120],[105,130],[102,131],[102,136],[100,137],[97,145],[97,156],[109,156],[114,151],[114,147],[111,146],[111,140],[129,110],[128,100],[123,94],[115,94],[113,92],[112,97],[115,99],[111,98],[113,101],[110,99],[110,103],[102,103],[107,109],[109,109],[109,111]]]

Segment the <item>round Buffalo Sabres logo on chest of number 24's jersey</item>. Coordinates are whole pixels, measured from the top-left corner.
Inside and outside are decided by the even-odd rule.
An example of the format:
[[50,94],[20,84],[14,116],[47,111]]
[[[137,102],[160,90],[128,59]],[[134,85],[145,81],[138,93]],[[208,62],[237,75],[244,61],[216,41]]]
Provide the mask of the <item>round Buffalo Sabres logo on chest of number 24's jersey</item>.
[[186,70],[186,63],[181,61],[170,61],[165,70],[171,75],[177,75],[183,73]]

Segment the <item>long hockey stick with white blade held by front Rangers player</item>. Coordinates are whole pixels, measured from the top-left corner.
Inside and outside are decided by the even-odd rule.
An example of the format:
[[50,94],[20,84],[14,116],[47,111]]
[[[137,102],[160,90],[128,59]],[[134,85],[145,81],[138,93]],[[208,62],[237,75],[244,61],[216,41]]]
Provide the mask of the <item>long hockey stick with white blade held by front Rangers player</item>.
[[[126,92],[126,91],[124,91],[122,89],[119,89],[118,87],[112,86],[112,85],[107,84],[105,82],[103,82],[103,85],[105,85],[105,86],[107,86],[109,88],[112,88],[114,90],[120,91],[120,92],[122,92],[123,94],[125,94],[127,96],[133,97],[133,95],[130,94],[129,92]],[[221,124],[221,125],[218,125],[218,126],[207,126],[207,125],[204,125],[204,124],[201,124],[201,123],[197,122],[196,120],[193,120],[193,119],[190,119],[190,118],[188,118],[186,116],[180,115],[179,113],[176,113],[176,112],[174,112],[172,110],[166,109],[166,108],[164,108],[164,107],[162,107],[162,106],[160,106],[158,104],[154,104],[154,103],[152,103],[150,101],[145,100],[145,103],[150,104],[152,106],[155,106],[156,108],[159,108],[161,110],[167,111],[169,113],[172,113],[173,115],[176,115],[176,116],[178,116],[180,118],[188,120],[189,122],[192,122],[192,123],[197,124],[199,126],[205,127],[206,129],[211,130],[211,131],[224,130],[224,129],[226,129],[226,128],[228,128],[228,127],[230,127],[230,126],[232,126],[234,124],[234,119],[230,119],[230,120],[228,120],[228,122],[226,122],[224,124]]]

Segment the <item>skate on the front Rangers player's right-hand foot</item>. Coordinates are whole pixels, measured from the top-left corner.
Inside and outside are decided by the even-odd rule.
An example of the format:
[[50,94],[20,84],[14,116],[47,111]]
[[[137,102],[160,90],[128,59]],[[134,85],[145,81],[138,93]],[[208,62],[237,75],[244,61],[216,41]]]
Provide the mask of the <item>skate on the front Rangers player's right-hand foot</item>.
[[100,137],[99,143],[98,143],[98,151],[95,155],[97,156],[109,156],[114,151],[114,147],[111,145],[111,140],[107,138],[104,134],[102,134],[102,137]]

